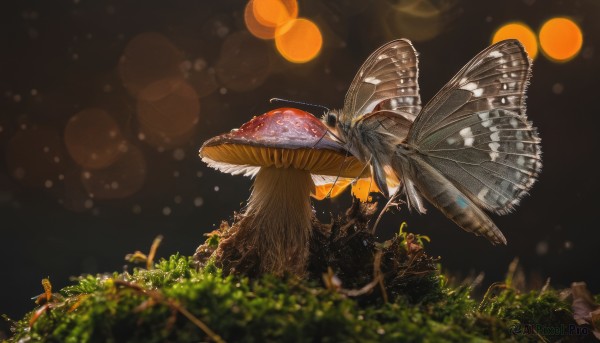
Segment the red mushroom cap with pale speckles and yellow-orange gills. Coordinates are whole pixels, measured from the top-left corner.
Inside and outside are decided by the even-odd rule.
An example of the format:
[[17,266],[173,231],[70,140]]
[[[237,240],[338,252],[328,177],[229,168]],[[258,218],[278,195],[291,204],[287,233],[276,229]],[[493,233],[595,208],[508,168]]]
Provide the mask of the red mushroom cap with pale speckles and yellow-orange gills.
[[364,164],[331,139],[320,120],[294,108],[269,111],[209,139],[200,148],[200,157],[232,174],[253,175],[260,167],[351,178],[365,172]]

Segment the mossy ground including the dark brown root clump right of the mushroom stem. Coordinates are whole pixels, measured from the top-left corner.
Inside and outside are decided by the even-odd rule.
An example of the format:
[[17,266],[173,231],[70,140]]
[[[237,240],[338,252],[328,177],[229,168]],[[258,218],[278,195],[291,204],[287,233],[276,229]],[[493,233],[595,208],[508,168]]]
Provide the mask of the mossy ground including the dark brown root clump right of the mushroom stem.
[[146,268],[82,276],[58,293],[44,282],[8,342],[593,341],[564,292],[520,292],[509,277],[475,300],[439,273],[426,237],[400,230],[377,243],[372,212],[355,205],[330,224],[314,221],[303,279],[223,270],[224,223],[194,257],[147,258],[138,261]]

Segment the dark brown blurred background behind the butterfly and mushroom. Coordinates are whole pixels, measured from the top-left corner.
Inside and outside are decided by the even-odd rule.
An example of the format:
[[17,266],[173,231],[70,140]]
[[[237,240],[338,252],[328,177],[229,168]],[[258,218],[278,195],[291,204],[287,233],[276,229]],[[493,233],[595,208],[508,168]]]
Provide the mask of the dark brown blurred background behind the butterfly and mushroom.
[[[431,206],[426,216],[404,209],[388,214],[380,232],[382,239],[388,238],[406,220],[409,231],[432,238],[427,250],[441,256],[444,270],[453,274],[483,271],[486,283],[502,280],[508,264],[519,257],[531,285],[550,277],[556,287],[586,281],[592,292],[600,292],[600,3],[395,3],[420,7],[404,6],[394,14],[384,0],[300,1],[300,16],[316,22],[323,32],[323,48],[313,61],[293,64],[277,54],[272,41],[247,33],[245,1],[3,2],[0,313],[18,318],[32,309],[29,299],[42,292],[44,277],[58,289],[74,275],[119,270],[125,254],[147,251],[158,234],[165,237],[159,257],[191,255],[203,233],[243,206],[251,185],[242,176],[208,169],[197,150],[204,140],[277,107],[269,98],[340,107],[364,59],[386,41],[407,37],[420,53],[421,95],[426,102],[490,44],[502,24],[518,20],[537,30],[554,16],[574,19],[584,43],[567,63],[551,62],[541,54],[534,62],[528,115],[542,137],[544,167],[515,213],[493,216],[508,246],[494,247],[463,232]],[[173,49],[174,64],[161,66],[164,59],[147,51],[122,59],[132,39],[147,32],[166,37],[167,43],[161,44]],[[149,61],[158,58],[157,70],[155,62],[144,66],[145,56]],[[241,68],[240,61],[250,61],[250,66]],[[192,112],[191,117],[172,119],[181,121],[176,128],[185,129],[169,133],[177,136],[174,141],[164,135],[152,137],[150,131],[160,132],[160,125],[142,122],[137,85],[127,84],[128,77],[139,76],[140,65],[150,73],[178,74],[193,90],[159,111],[168,124],[171,112]],[[199,110],[194,107],[198,103]],[[69,119],[90,108],[106,111],[119,132],[121,145],[111,147],[114,142],[108,140],[107,151],[126,146],[125,157],[117,154],[121,159],[113,169],[86,168],[70,153]],[[93,132],[94,127],[87,129]],[[101,131],[103,126],[99,122],[96,128]],[[77,139],[85,141],[86,135]],[[82,173],[88,179],[92,175],[93,182],[82,181]],[[118,187],[111,190],[113,179]],[[94,198],[89,193],[95,193]],[[339,213],[348,203],[345,194],[316,202],[315,207],[322,220],[329,220],[330,212]],[[2,327],[0,337],[1,331]]]

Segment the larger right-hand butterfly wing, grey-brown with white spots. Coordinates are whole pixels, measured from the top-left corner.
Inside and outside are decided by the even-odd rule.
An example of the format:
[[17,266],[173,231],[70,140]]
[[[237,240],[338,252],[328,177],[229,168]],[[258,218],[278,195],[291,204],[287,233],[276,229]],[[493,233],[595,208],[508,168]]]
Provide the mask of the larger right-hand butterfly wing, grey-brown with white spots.
[[[411,127],[408,145],[448,180],[446,188],[441,183],[441,189],[419,190],[442,194],[452,188],[453,204],[450,198],[441,202],[425,194],[449,218],[464,216],[465,208],[472,206],[504,214],[535,182],[541,149],[536,129],[525,115],[530,75],[531,61],[518,41],[494,44],[446,84]],[[468,231],[492,230],[489,218],[475,212],[469,223],[465,218],[453,220]]]

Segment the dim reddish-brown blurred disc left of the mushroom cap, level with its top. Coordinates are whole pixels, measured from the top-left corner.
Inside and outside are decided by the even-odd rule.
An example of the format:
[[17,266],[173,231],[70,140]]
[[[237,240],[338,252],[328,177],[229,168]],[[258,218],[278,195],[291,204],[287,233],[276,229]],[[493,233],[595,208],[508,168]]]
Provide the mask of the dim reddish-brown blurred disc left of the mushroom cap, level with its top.
[[90,169],[109,166],[127,145],[115,120],[106,111],[96,108],[85,109],[71,117],[64,139],[73,160]]

